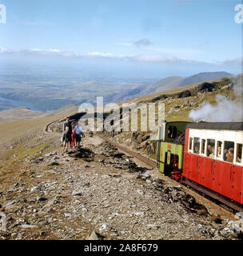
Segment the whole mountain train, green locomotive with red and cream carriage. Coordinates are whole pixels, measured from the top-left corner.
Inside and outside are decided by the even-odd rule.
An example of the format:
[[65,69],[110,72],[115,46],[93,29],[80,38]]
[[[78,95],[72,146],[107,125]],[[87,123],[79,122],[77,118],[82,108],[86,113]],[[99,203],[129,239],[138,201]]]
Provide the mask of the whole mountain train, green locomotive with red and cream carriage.
[[243,122],[163,122],[157,166],[178,182],[243,210]]

